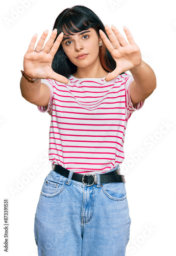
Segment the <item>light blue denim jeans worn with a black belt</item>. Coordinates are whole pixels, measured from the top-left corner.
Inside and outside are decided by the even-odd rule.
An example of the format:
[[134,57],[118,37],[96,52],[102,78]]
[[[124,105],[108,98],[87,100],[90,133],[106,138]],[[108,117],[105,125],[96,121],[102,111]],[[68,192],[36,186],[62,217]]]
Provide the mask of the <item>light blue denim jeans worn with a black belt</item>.
[[71,176],[51,170],[44,180],[34,221],[38,255],[124,256],[131,225],[125,183],[101,184],[97,174],[87,186]]

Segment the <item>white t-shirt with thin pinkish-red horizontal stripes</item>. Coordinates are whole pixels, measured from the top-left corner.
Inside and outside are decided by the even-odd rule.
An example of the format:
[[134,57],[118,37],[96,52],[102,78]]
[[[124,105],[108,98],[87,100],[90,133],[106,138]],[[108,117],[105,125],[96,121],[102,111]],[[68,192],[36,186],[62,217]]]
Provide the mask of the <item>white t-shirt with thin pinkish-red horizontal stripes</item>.
[[51,115],[49,161],[72,172],[106,173],[124,159],[123,143],[128,119],[144,102],[133,107],[127,73],[104,78],[69,77],[70,85],[41,79],[51,90],[47,109]]

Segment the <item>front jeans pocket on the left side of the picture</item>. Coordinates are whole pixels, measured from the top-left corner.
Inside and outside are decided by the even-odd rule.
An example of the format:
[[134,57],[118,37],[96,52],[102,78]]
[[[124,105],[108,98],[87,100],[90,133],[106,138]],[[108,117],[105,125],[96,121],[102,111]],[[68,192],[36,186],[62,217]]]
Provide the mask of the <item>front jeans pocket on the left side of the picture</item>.
[[65,181],[55,180],[51,174],[48,174],[44,180],[41,195],[44,197],[56,197],[65,187]]

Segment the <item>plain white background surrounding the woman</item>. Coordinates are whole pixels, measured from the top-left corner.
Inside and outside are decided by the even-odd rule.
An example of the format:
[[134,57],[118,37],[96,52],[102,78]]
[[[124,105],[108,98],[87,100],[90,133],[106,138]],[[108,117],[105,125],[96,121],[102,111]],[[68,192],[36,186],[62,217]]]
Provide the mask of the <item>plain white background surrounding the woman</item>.
[[[9,0],[2,4],[0,253],[7,255],[3,248],[7,198],[8,255],[38,255],[34,217],[41,186],[51,170],[47,155],[50,116],[21,96],[23,56],[35,33],[39,38],[48,29],[50,35],[63,9],[82,4],[124,36],[122,26],[127,26],[142,59],[157,77],[157,89],[143,108],[133,113],[125,137],[121,173],[125,175],[132,220],[126,255],[175,255],[175,1]],[[20,14],[15,18],[17,11]]]

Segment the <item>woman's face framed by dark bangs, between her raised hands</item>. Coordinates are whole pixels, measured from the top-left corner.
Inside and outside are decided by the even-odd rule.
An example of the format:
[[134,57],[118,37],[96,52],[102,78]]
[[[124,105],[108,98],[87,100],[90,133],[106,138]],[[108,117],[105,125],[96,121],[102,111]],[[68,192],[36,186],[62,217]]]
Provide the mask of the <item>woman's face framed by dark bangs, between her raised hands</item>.
[[99,58],[99,42],[102,42],[102,39],[98,38],[93,28],[74,35],[65,34],[62,39],[62,47],[74,65],[85,68]]

